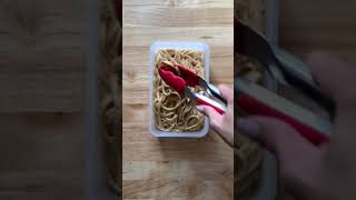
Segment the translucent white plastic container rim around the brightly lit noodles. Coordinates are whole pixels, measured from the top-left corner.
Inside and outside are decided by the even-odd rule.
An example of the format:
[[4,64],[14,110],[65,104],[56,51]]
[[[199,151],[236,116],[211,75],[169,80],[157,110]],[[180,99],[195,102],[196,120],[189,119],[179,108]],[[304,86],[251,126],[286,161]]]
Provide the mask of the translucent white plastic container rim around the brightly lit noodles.
[[154,111],[154,69],[155,57],[159,50],[164,49],[187,49],[197,50],[204,54],[204,79],[209,81],[210,74],[210,49],[208,44],[204,42],[188,42],[188,41],[157,41],[151,44],[149,52],[149,67],[150,67],[150,87],[149,87],[149,132],[157,138],[202,138],[209,131],[209,119],[206,117],[204,126],[199,131],[190,132],[174,132],[161,131],[156,128],[155,124],[155,111]]

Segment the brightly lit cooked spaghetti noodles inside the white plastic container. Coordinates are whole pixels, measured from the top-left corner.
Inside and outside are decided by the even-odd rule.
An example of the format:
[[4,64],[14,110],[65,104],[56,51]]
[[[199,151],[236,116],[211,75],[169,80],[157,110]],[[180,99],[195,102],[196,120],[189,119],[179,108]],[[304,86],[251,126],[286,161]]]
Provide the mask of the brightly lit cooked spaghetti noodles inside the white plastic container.
[[[204,126],[204,116],[196,110],[195,102],[181,93],[172,90],[160,78],[158,70],[162,62],[179,63],[198,76],[204,76],[204,57],[192,50],[160,50],[155,59],[154,71],[154,109],[155,123],[161,131],[197,131]],[[196,92],[202,89],[196,87]]]

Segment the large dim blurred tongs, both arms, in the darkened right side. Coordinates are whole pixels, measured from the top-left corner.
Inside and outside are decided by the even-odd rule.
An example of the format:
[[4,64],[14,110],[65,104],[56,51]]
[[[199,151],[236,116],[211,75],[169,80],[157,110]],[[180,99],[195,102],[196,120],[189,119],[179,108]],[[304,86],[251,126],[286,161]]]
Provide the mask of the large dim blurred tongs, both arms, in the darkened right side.
[[330,119],[335,113],[335,103],[320,91],[313,76],[303,70],[308,68],[291,54],[271,47],[263,36],[241,21],[236,20],[235,27],[236,52],[257,59],[267,68],[271,79],[312,98],[328,111],[329,118],[316,114],[244,78],[235,79],[237,108],[248,114],[283,120],[313,143],[327,141],[333,129]]

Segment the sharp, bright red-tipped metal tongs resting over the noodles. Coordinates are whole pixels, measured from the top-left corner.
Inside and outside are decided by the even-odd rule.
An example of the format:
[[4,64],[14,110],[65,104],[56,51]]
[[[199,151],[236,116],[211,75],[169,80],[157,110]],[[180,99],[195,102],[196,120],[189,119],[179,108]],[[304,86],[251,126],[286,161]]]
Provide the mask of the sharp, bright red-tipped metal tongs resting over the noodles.
[[[176,69],[176,68],[178,69]],[[211,83],[208,83],[195,71],[171,62],[162,62],[159,67],[159,76],[162,80],[179,93],[185,93],[186,97],[194,100],[197,104],[208,106],[214,108],[220,114],[224,114],[227,110],[226,100],[221,97],[219,90]],[[200,86],[209,96],[214,96],[222,103],[215,101],[204,94],[192,92],[189,87]]]

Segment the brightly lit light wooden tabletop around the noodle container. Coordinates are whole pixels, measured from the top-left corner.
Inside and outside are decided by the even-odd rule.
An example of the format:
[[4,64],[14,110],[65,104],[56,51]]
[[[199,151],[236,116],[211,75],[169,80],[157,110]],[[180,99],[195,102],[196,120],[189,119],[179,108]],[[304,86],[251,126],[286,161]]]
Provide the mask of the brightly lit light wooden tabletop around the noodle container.
[[233,199],[233,149],[204,139],[148,132],[149,47],[156,40],[207,42],[211,81],[233,84],[233,0],[123,0],[123,199]]

